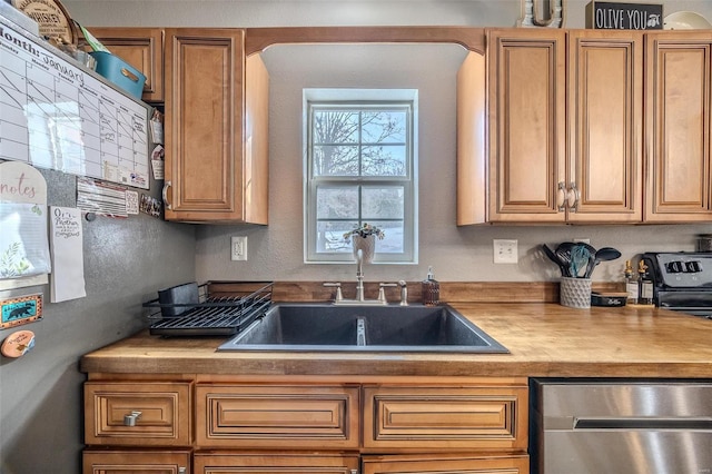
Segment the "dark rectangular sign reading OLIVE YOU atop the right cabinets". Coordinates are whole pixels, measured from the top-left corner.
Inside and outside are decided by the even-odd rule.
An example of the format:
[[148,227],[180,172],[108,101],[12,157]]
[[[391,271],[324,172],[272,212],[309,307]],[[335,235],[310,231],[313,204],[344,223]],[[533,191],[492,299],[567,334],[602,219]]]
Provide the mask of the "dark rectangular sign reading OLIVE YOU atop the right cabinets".
[[662,30],[663,6],[592,1],[586,4],[586,28],[597,30]]

